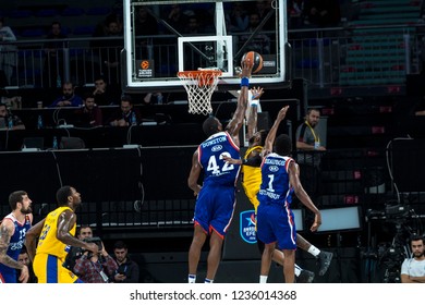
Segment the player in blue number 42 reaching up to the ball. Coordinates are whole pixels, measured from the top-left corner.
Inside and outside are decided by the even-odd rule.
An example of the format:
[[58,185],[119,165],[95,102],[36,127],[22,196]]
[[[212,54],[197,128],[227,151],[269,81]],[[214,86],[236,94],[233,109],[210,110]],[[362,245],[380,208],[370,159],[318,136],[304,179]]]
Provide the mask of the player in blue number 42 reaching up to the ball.
[[[250,76],[253,63],[245,60],[241,63],[241,94],[233,118],[224,129],[217,118],[210,117],[203,124],[209,136],[194,152],[187,185],[197,195],[194,215],[194,234],[189,249],[189,282],[196,282],[197,265],[202,247],[209,236],[207,274],[204,282],[212,283],[220,263],[221,247],[226,232],[232,220],[235,204],[235,183],[239,164],[229,164],[223,156],[240,158],[239,131],[247,107]],[[204,173],[204,184],[197,181]]]

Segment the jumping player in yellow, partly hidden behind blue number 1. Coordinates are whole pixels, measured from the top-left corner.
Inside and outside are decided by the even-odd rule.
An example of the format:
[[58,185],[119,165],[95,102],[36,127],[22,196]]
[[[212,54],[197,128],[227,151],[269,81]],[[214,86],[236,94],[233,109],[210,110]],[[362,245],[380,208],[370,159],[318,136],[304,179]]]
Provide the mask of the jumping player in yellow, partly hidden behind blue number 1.
[[[257,208],[259,202],[257,199],[257,193],[262,184],[262,170],[259,168],[262,163],[262,151],[265,145],[265,141],[268,132],[265,130],[257,130],[257,111],[259,107],[258,98],[263,95],[263,88],[253,88],[251,96],[253,100],[251,101],[248,119],[247,119],[247,138],[248,138],[248,149],[246,150],[242,160],[230,159],[224,157],[228,162],[231,163],[242,163],[242,186],[246,194],[246,197],[250,199],[251,204],[254,206],[255,215],[257,213]],[[278,114],[277,120],[283,120],[288,107],[282,108]],[[280,118],[279,118],[280,117]],[[258,241],[258,247],[260,252],[264,251],[264,243]],[[312,254],[318,259],[319,263],[319,276],[324,276],[330,266],[333,254],[330,252],[320,251],[308,241],[306,241],[300,234],[296,234],[296,245]],[[275,249],[272,259],[279,265],[283,266],[283,253],[279,249]],[[295,274],[298,282],[312,282],[314,280],[314,272],[304,270],[295,265]]]

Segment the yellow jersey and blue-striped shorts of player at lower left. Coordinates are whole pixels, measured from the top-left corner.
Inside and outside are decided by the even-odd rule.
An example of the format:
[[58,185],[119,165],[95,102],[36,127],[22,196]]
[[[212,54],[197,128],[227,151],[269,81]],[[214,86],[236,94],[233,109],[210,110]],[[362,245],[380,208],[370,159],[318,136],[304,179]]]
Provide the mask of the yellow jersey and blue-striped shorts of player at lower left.
[[[34,272],[39,283],[74,283],[82,282],[77,276],[62,266],[66,257],[68,246],[58,240],[58,219],[70,207],[59,207],[48,213],[37,244],[34,258]],[[74,235],[76,224],[70,231]]]

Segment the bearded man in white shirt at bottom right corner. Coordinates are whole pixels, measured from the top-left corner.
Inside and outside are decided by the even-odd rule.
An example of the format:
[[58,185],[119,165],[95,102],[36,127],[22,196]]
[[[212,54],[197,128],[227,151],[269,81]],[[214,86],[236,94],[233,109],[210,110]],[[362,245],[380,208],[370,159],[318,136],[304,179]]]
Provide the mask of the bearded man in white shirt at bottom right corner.
[[412,258],[401,265],[402,283],[425,283],[425,255],[423,236],[413,235],[410,241]]

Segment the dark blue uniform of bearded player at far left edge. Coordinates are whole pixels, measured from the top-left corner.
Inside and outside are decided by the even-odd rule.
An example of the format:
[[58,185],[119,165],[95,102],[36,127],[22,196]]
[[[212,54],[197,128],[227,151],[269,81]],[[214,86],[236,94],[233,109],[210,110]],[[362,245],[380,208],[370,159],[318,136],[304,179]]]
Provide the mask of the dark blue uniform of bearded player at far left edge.
[[[17,260],[21,249],[24,246],[25,234],[31,228],[29,217],[25,217],[25,222],[20,223],[16,218],[10,213],[4,219],[10,219],[15,225],[15,232],[10,239],[9,248],[7,255]],[[4,220],[3,220],[4,221]],[[16,269],[10,268],[3,264],[0,264],[0,274],[3,277],[5,283],[15,283],[16,282]]]

